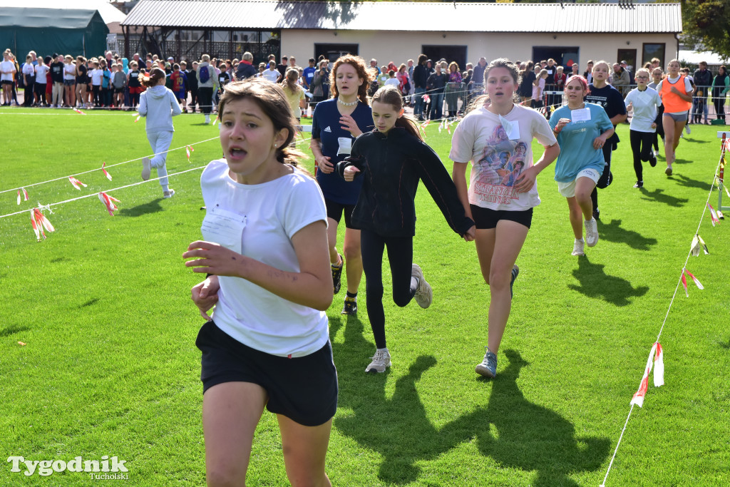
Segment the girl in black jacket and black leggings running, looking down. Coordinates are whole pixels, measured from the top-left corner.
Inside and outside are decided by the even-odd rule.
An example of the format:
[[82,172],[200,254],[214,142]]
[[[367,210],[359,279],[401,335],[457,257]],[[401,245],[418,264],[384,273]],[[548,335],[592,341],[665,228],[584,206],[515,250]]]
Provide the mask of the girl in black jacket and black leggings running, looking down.
[[415,297],[426,308],[433,296],[420,266],[411,264],[418,181],[426,185],[451,229],[467,242],[474,239],[475,226],[464,214],[439,156],[423,143],[415,122],[403,117],[403,99],[396,88],[383,87],[375,93],[372,118],[375,130],[356,139],[351,156],[337,164],[337,171],[346,181],[363,178],[352,223],[361,230],[367,312],[377,347],[365,372],[385,372],[391,354],[385,345],[384,248],[388,248],[396,304],[403,307]]

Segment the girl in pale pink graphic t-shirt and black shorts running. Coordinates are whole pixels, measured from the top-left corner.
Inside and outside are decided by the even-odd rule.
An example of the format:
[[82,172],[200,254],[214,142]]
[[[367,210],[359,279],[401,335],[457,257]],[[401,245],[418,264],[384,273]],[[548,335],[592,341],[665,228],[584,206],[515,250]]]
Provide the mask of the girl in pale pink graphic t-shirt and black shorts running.
[[[515,104],[518,70],[507,59],[496,59],[484,74],[491,104],[469,112],[456,127],[449,158],[453,180],[466,215],[476,225],[477,256],[489,285],[488,345],[477,374],[496,375],[499,343],[512,307],[512,284],[532,221],[532,208],[540,203],[535,178],[555,161],[560,147],[545,117]],[[477,99],[481,102],[485,97]],[[532,139],[545,147],[533,164]],[[472,162],[469,188],[466,164]]]

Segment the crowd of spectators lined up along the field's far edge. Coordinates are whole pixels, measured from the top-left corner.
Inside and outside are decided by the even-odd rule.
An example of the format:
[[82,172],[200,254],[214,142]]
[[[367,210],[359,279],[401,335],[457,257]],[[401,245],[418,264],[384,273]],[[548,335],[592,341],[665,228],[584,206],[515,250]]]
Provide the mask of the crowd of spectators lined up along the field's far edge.
[[[1,84],[3,105],[19,105],[18,93],[23,91],[23,105],[26,107],[52,108],[103,108],[134,110],[139,103],[139,94],[144,91],[140,77],[153,67],[159,67],[167,75],[166,86],[177,96],[183,112],[215,112],[220,93],[226,84],[247,77],[264,77],[273,83],[285,83],[289,69],[297,72],[296,85],[304,96],[299,101],[301,114],[311,114],[314,105],[328,99],[330,93],[331,61],[320,55],[310,58],[307,66],[296,64],[294,56],[284,55],[277,61],[272,54],[265,62],[253,64],[253,55],[244,53],[242,59],[218,59],[204,55],[199,61],[176,61],[172,56],[164,59],[158,55],[145,57],[134,54],[131,60],[120,57],[112,51],[85,58],[81,55],[53,53],[37,55],[31,51],[22,66],[10,50],[3,53],[1,63]],[[211,66],[209,76],[201,83],[201,64]],[[539,62],[515,61],[520,67],[518,95],[522,104],[542,109],[549,116],[550,109],[562,104],[561,92],[567,80],[575,74],[582,74],[591,83],[593,61],[581,69],[569,61],[566,66],[556,64],[552,58]],[[661,61],[653,58],[645,64],[650,72],[662,70]],[[373,81],[369,94],[383,85],[394,85],[404,96],[407,106],[413,108],[417,120],[438,120],[446,116],[454,118],[465,112],[470,101],[484,92],[484,69],[486,58],[479,58],[476,64],[458,66],[455,61],[429,59],[418,56],[417,61],[408,59],[401,64],[393,61],[378,64],[377,59],[369,62]],[[709,123],[710,106],[715,117],[724,120],[726,93],[730,91],[730,77],[725,66],[716,74],[707,69],[704,61],[694,73],[684,69],[683,73],[694,88],[694,104],[690,123]],[[215,72],[215,74],[213,74]],[[664,72],[661,71],[662,75]],[[626,97],[635,86],[634,67],[619,61],[613,64],[608,82]]]

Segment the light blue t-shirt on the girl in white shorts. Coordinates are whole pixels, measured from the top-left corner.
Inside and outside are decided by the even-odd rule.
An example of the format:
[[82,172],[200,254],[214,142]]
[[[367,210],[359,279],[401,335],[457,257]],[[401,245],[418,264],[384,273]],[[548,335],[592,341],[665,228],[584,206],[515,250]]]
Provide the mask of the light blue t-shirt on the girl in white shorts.
[[[606,164],[603,150],[593,148],[593,139],[608,129],[612,129],[613,124],[608,118],[606,110],[600,105],[586,103],[585,108],[591,113],[590,120],[570,122],[557,136],[560,156],[555,164],[555,180],[558,183],[569,183],[575,180],[583,169],[596,169],[599,174],[602,174]],[[567,105],[558,108],[550,117],[550,127],[555,129],[561,118],[570,120],[577,118],[578,114],[573,115],[573,111]],[[585,115],[583,110],[575,110],[575,112],[582,112],[582,115]]]

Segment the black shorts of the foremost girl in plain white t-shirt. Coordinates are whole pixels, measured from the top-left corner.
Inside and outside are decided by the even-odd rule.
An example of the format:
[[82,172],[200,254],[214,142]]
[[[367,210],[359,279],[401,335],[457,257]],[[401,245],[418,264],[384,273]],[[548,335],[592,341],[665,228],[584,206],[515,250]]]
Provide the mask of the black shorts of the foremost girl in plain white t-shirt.
[[304,357],[274,356],[243,345],[208,321],[195,345],[203,353],[203,394],[226,382],[258,384],[268,396],[267,410],[304,426],[326,423],[337,411],[337,369],[329,342]]

